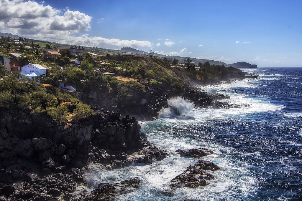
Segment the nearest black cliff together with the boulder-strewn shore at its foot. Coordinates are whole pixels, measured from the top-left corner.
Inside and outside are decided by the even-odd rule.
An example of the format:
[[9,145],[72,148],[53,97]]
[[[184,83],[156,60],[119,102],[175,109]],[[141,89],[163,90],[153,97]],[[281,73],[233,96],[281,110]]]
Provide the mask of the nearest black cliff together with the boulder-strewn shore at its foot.
[[[135,118],[121,118],[119,112],[97,112],[90,118],[57,124],[43,115],[1,111],[0,123],[5,134],[5,139],[0,136],[0,200],[69,200],[76,183],[85,184],[86,170],[74,167],[96,162],[112,169],[166,157],[140,132]],[[136,190],[138,183],[102,184],[91,195],[95,200],[111,200],[115,194]],[[99,195],[102,189],[107,193]],[[91,200],[85,192],[78,197]]]

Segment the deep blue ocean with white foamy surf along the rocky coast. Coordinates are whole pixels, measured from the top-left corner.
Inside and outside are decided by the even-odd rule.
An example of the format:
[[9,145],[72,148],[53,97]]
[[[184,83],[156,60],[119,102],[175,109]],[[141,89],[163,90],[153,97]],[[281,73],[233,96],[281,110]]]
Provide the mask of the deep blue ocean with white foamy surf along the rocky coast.
[[[173,99],[181,115],[162,110],[162,118],[140,122],[167,158],[111,171],[95,166],[86,176],[91,190],[101,182],[138,178],[139,190],[117,200],[302,200],[302,68],[242,70],[259,79],[198,87],[249,107],[194,108]],[[175,153],[190,148],[213,150],[202,159],[221,169],[209,171],[215,179],[205,187],[171,191],[170,180],[198,161]]]

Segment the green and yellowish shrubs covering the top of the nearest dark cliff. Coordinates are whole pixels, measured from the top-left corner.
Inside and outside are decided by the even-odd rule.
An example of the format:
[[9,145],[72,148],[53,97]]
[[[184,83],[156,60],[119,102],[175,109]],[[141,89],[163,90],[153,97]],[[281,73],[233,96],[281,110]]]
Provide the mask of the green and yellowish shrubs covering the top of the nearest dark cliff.
[[[5,67],[0,66],[0,70]],[[20,74],[2,74],[0,80],[0,110],[22,110],[32,115],[48,115],[58,122],[86,118],[94,112],[68,93],[55,86],[20,80]]]

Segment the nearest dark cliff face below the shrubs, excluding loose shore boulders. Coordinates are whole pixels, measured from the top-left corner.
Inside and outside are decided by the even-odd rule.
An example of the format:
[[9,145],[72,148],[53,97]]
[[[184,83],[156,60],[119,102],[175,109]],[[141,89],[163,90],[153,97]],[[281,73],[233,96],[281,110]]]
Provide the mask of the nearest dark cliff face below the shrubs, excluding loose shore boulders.
[[[119,112],[97,112],[81,121],[57,124],[47,116],[2,110],[0,123],[0,169],[22,171],[12,176],[17,180],[32,171],[43,174],[92,162],[117,168],[165,157],[150,145],[135,118],[120,118]],[[127,159],[136,152],[140,157]],[[11,180],[2,176],[0,182]]]

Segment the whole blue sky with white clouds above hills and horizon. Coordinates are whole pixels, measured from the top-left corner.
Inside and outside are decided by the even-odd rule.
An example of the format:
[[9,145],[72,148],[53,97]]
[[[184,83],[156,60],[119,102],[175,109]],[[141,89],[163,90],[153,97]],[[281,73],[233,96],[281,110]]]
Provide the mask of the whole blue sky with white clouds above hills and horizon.
[[231,64],[302,66],[301,0],[0,0],[0,32]]

